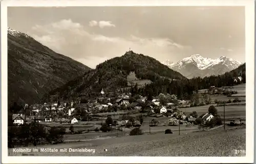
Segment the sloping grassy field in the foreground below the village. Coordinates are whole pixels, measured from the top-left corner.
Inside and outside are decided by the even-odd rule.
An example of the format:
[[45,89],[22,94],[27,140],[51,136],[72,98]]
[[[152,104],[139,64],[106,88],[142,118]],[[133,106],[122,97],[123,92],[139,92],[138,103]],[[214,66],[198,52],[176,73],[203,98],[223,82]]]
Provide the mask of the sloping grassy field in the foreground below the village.
[[[181,135],[178,135],[178,132],[144,134],[37,147],[37,149],[55,148],[58,152],[40,152],[39,150],[39,152],[14,153],[13,149],[9,149],[8,154],[12,156],[245,156],[245,154],[236,154],[234,151],[235,149],[245,150],[245,126],[226,127],[226,129],[226,131],[219,128],[211,131],[181,133]],[[65,148],[67,152],[60,152],[60,149]],[[70,152],[70,148],[90,149],[95,152]]]

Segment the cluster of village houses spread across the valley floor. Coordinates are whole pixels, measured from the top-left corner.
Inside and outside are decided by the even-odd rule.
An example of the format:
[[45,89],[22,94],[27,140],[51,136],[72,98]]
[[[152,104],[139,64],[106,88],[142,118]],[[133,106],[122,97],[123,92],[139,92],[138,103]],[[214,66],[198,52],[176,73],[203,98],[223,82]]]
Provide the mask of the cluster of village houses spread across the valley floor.
[[[95,99],[95,100],[89,100],[89,103],[87,105],[91,106],[91,108],[93,109],[97,109],[99,112],[102,111],[102,109],[104,108],[108,108],[109,106],[112,106],[112,105],[118,105],[119,107],[121,105],[125,105],[126,107],[130,107],[130,108],[133,108],[133,109],[140,109],[141,106],[139,103],[137,102],[133,102],[133,103],[129,103],[129,99],[130,97],[127,96],[127,95],[119,95],[118,96],[118,99],[115,100],[115,103],[112,104],[112,103],[107,103],[107,104],[97,104],[97,100],[100,100],[100,99],[107,99],[108,101],[111,100],[111,98],[104,98],[104,97],[101,97],[101,98],[98,98],[98,99]],[[139,101],[142,101],[142,102],[145,102],[146,98],[145,97],[141,97]],[[179,104],[186,104],[187,102],[185,100],[178,100],[178,103]],[[80,105],[80,102],[71,102],[69,107],[67,107],[67,103],[65,102],[61,102],[59,105],[58,103],[53,103],[51,104],[51,110],[58,110],[58,111],[66,111],[66,115],[68,115],[68,118],[69,119],[69,123],[70,124],[75,124],[75,123],[78,123],[79,119],[78,118],[75,118],[73,116],[73,112],[74,110],[76,109],[76,106],[75,104],[78,104]],[[174,103],[167,103],[166,106],[161,106],[160,102],[159,102],[159,99],[153,99],[152,100],[152,103],[149,104],[149,107],[151,108],[150,112],[151,113],[155,113],[156,110],[155,109],[158,109],[158,113],[160,111],[160,114],[164,114],[164,113],[167,113],[167,112],[170,112],[170,113],[173,113],[173,108],[172,106],[174,105]],[[42,110],[45,110],[45,111],[49,111],[49,104],[45,103],[44,105],[37,105],[37,106],[34,106],[33,109],[32,109],[32,112],[34,113],[41,113]],[[86,110],[88,113],[91,113],[91,111],[89,110]],[[36,114],[38,115],[38,114]],[[175,115],[172,114],[170,116],[173,116]],[[210,118],[212,118],[212,115],[205,115],[204,118],[207,116],[207,120],[209,120]],[[184,119],[186,118],[186,115],[183,113],[181,115],[181,119]],[[29,115],[29,116],[26,116],[25,114],[22,114],[22,113],[19,113],[19,114],[13,114],[12,115],[12,119],[13,119],[13,123],[14,124],[24,124],[24,122],[26,121],[35,121],[35,122],[51,122],[51,121],[54,121],[56,118],[52,118],[51,115],[45,115],[45,116],[35,116],[35,115]],[[58,118],[58,119],[61,119],[61,118]]]

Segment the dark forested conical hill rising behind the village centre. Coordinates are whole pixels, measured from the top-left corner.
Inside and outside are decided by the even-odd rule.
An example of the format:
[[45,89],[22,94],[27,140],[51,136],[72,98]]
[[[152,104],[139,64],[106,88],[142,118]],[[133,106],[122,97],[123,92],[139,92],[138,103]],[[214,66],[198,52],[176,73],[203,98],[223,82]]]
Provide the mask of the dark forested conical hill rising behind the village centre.
[[131,72],[135,72],[138,80],[147,79],[153,83],[159,79],[165,81],[186,79],[180,73],[173,71],[152,57],[129,51],[121,57],[100,63],[95,69],[88,71],[83,76],[52,90],[45,95],[42,101],[67,100],[81,96],[95,97],[99,96],[102,88],[106,93],[116,92],[119,88],[128,87],[127,76]]

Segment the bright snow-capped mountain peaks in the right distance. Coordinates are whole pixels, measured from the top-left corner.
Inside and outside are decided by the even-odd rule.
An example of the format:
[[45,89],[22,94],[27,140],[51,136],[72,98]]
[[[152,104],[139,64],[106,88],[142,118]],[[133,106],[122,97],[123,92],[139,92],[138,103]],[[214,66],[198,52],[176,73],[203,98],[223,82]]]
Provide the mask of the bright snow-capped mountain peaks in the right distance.
[[198,76],[205,77],[224,74],[225,72],[229,72],[232,69],[237,68],[242,63],[224,56],[217,59],[210,59],[204,58],[199,54],[194,54],[178,61],[177,63],[167,60],[163,62],[163,64],[180,72],[187,78],[193,78]]

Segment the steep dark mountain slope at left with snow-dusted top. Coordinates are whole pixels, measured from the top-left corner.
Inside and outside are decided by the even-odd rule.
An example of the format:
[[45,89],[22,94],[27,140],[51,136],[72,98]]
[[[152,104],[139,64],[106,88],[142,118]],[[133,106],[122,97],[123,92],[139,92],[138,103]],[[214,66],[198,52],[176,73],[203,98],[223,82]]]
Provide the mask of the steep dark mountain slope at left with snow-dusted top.
[[90,69],[8,28],[8,104],[38,102],[45,93]]

